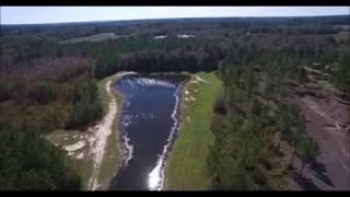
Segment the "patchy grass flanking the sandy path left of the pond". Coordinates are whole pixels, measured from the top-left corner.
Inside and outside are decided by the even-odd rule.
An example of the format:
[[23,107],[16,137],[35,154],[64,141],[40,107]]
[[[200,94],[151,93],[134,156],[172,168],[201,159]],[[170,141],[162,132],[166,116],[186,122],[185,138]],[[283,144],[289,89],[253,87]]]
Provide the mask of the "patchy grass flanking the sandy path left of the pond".
[[[105,85],[107,81],[112,80],[112,85],[115,81],[120,79],[120,77],[108,77],[98,82],[98,95],[101,96],[104,114],[107,114],[108,104],[110,102],[110,96],[108,96]],[[107,147],[102,161],[98,184],[101,187],[98,189],[106,189],[109,186],[110,178],[115,175],[113,172],[117,172],[117,169],[121,161],[121,144],[119,142],[119,135],[117,130],[117,124],[119,118],[119,113],[122,107],[122,95],[117,91],[113,90],[113,94],[117,101],[117,116],[112,126],[113,134],[107,139]],[[86,190],[89,188],[89,179],[93,173],[93,158],[91,154],[92,147],[89,143],[89,139],[92,137],[91,131],[79,131],[79,130],[56,130],[47,136],[47,139],[54,144],[59,147],[66,147],[74,144],[79,141],[85,142],[81,149],[73,151],[73,154],[70,155],[72,167],[80,174],[82,189]],[[79,157],[81,154],[82,157]]]

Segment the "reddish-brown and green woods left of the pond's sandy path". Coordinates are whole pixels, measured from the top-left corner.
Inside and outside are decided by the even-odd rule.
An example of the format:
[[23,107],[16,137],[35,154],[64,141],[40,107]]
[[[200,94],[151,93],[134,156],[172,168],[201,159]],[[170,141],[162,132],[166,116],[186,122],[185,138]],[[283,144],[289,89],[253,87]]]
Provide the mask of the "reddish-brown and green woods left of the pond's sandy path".
[[47,132],[86,126],[102,115],[89,60],[43,59],[35,63],[33,69],[1,78],[1,126]]

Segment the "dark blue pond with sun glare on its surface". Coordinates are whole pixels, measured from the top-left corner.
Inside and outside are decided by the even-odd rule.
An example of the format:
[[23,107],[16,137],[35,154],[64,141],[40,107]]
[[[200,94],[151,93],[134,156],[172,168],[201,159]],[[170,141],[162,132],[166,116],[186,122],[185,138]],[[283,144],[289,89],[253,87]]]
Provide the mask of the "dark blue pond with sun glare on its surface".
[[185,79],[179,74],[130,74],[114,85],[124,95],[119,118],[124,160],[112,190],[162,189]]

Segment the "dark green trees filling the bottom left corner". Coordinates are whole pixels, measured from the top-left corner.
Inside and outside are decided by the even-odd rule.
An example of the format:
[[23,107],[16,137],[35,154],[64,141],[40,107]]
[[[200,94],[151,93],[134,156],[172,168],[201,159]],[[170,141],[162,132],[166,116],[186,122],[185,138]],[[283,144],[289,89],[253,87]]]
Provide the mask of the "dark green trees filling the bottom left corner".
[[0,189],[77,190],[80,177],[66,153],[36,132],[1,128]]

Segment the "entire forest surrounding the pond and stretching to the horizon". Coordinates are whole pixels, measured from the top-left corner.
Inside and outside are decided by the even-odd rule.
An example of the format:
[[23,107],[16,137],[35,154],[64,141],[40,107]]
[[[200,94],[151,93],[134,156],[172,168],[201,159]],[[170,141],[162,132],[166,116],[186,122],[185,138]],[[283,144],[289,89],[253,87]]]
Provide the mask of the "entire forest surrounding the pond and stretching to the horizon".
[[[349,15],[1,25],[0,189],[80,188],[66,153],[43,134],[101,118],[98,80],[118,71],[213,70],[224,96],[211,123],[212,189],[283,189],[288,170],[278,167],[272,136],[288,141],[303,163],[319,152],[298,107],[285,102],[287,86],[305,80],[310,66],[349,99],[348,22]],[[126,36],[61,43],[110,32]]]

